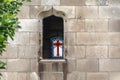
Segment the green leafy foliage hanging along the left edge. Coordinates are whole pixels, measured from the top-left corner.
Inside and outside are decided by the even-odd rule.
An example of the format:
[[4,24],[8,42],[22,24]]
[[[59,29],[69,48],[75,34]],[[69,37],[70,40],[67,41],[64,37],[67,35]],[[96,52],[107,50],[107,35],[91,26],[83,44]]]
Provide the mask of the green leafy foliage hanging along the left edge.
[[[30,0],[0,0],[0,55],[5,51],[8,38],[13,40],[15,29],[20,28],[16,16],[24,1]],[[0,69],[5,69],[5,66],[0,61]]]

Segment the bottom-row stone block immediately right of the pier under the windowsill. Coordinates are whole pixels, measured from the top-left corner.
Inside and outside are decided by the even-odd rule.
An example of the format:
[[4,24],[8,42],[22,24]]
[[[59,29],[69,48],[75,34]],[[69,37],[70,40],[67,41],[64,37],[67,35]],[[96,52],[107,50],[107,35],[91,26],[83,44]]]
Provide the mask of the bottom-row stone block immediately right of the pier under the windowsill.
[[71,72],[68,73],[67,80],[86,80],[84,72]]

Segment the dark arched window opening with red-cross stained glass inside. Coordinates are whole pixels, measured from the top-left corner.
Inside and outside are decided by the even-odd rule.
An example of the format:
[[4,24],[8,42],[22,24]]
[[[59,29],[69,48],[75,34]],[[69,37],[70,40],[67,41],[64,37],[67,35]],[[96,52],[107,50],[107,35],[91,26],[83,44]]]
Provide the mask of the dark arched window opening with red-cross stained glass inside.
[[[53,44],[52,42],[53,41]],[[54,43],[55,42],[55,43]],[[53,55],[53,46],[57,43],[57,47],[54,48],[57,53],[54,57]],[[56,17],[54,15],[46,17],[43,19],[43,59],[53,59],[53,58],[63,58],[63,43],[64,43],[64,21],[61,17]],[[62,48],[61,48],[62,44]],[[61,50],[62,49],[62,50]],[[62,51],[59,52],[59,51]],[[61,54],[58,54],[61,53]],[[61,56],[60,56],[61,55]]]

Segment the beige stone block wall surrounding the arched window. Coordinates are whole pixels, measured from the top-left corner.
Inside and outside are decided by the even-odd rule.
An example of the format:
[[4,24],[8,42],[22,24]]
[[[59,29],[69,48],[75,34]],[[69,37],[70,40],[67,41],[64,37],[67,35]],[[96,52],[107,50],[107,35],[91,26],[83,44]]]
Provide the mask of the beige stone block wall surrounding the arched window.
[[[42,19],[38,15],[52,6],[66,14],[67,80],[119,80],[119,0],[33,0],[24,3],[18,15],[22,29],[16,30],[15,40],[9,40],[0,58],[7,62],[6,70],[1,70],[3,80],[39,80],[37,58]],[[46,68],[51,70],[50,65]],[[44,80],[63,80],[63,73],[59,74],[48,73]]]

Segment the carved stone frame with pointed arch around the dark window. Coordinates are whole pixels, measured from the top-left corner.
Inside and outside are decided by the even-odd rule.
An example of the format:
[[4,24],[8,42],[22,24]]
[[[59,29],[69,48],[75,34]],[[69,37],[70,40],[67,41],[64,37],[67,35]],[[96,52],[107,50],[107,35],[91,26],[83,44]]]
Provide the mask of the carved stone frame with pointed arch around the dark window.
[[[61,17],[61,18],[63,18],[63,20],[64,20],[64,26],[66,26],[65,25],[65,22],[66,22],[66,14],[64,13],[64,12],[62,12],[62,11],[58,11],[58,10],[56,10],[56,9],[54,9],[53,7],[52,8],[50,8],[49,10],[46,10],[46,11],[41,11],[40,13],[39,13],[39,15],[38,15],[38,17],[39,17],[39,22],[40,22],[40,26],[41,26],[41,28],[42,29],[40,29],[41,31],[41,40],[40,40],[40,43],[41,43],[41,45],[40,45],[40,51],[39,51],[39,59],[41,59],[41,60],[43,60],[43,58],[42,58],[42,46],[43,46],[43,24],[42,24],[42,21],[43,21],[43,18],[45,18],[45,17],[48,17],[48,16],[51,16],[51,15],[55,15],[55,16],[57,16],[57,17]],[[64,27],[64,33],[65,33],[65,27]],[[65,34],[64,34],[64,36],[65,36]],[[65,37],[64,37],[64,41],[65,41]],[[64,44],[65,44],[65,42],[64,42]],[[66,55],[66,50],[65,50],[66,48],[64,47],[64,58],[66,57],[65,55]],[[66,59],[66,58],[65,58]]]

